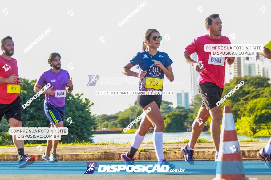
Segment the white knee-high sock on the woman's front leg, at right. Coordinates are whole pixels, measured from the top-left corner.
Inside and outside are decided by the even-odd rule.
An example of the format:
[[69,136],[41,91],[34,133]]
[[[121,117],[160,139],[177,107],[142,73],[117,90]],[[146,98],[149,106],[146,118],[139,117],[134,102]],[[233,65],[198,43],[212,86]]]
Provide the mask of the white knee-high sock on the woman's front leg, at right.
[[163,153],[163,132],[154,131],[152,136],[152,142],[158,161],[164,160],[165,158]]

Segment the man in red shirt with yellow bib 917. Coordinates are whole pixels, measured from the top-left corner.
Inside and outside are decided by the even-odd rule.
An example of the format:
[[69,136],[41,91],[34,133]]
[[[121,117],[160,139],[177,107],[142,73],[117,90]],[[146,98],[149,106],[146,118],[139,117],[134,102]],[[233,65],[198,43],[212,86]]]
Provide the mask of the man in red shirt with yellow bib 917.
[[[16,59],[11,56],[14,54],[14,42],[12,37],[7,36],[1,40],[2,55],[0,56],[0,121],[4,114],[11,128],[22,127],[22,108],[20,84],[22,79],[18,76]],[[18,167],[26,167],[34,163],[35,156],[27,157],[24,154],[23,140],[16,140],[12,136],[13,143],[18,152]]]

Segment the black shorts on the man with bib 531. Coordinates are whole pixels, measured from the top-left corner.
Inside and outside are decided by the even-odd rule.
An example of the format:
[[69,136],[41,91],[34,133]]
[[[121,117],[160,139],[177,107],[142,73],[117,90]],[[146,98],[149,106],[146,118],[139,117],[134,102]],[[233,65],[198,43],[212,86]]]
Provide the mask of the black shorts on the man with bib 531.
[[205,105],[206,109],[216,107],[216,103],[220,101],[223,89],[211,82],[205,82],[198,85],[199,92],[202,98],[201,107]]

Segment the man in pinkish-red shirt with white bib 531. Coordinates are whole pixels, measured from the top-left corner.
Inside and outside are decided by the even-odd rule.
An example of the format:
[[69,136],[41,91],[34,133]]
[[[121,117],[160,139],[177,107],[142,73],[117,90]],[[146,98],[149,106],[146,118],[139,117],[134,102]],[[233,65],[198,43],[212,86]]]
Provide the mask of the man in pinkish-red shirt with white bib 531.
[[[186,62],[199,72],[198,88],[203,100],[198,116],[192,125],[190,141],[186,146],[182,147],[185,161],[190,164],[194,163],[193,148],[203,130],[204,123],[210,115],[212,117],[210,130],[216,148],[215,159],[218,157],[222,109],[221,106],[217,106],[216,103],[220,101],[225,84],[225,62],[229,65],[234,62],[234,57],[213,58],[210,55],[210,52],[204,51],[205,44],[231,44],[228,37],[221,36],[222,22],[219,18],[219,14],[208,16],[205,19],[205,26],[208,30],[208,34],[195,38],[184,51]],[[198,55],[197,62],[190,57],[194,52]],[[203,67],[198,65],[200,61],[202,62]]]

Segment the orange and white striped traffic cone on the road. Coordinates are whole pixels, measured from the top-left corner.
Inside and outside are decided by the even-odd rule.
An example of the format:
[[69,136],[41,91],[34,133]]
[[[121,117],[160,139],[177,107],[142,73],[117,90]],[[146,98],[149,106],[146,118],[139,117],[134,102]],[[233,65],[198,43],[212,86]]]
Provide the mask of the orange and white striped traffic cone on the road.
[[224,106],[216,178],[213,180],[249,180],[245,176],[231,106]]

